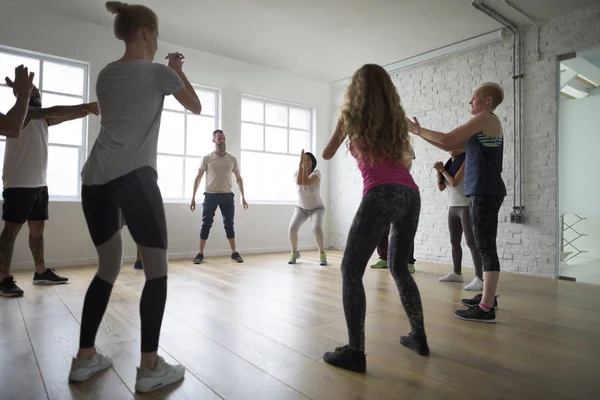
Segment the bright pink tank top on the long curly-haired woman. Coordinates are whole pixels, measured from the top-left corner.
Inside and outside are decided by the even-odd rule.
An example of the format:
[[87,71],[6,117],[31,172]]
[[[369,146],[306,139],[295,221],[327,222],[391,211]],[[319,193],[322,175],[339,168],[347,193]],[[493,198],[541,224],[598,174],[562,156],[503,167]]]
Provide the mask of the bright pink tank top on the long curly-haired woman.
[[363,196],[372,188],[380,185],[402,185],[419,190],[408,168],[401,163],[390,160],[375,162],[372,166],[361,161],[355,154],[354,146],[350,144],[350,152],[358,163],[358,169],[363,177]]

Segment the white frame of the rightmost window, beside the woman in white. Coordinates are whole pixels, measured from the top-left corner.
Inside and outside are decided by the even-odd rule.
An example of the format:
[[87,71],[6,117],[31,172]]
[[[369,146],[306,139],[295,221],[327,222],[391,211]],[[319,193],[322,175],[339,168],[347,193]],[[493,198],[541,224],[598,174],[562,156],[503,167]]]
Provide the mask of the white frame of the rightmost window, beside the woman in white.
[[[263,103],[263,122],[262,123],[245,121],[243,119],[241,110],[243,107],[244,99],[248,99],[248,100],[252,100],[252,101],[260,101]],[[267,104],[287,107],[287,125],[285,127],[267,124],[267,122],[266,122],[266,120],[267,120],[267,118],[266,118],[267,117],[267,115],[266,115],[267,114],[267,111],[266,111]],[[240,171],[242,173],[242,176],[244,176],[244,174],[245,174],[244,165],[243,165],[243,163],[244,163],[243,153],[244,152],[257,153],[257,154],[273,154],[273,155],[279,155],[279,156],[294,156],[294,157],[300,156],[300,154],[290,153],[290,130],[302,131],[302,129],[290,127],[290,107],[304,109],[309,112],[309,118],[310,118],[309,123],[308,123],[309,128],[308,128],[308,130],[305,130],[308,132],[307,149],[309,149],[308,151],[311,151],[314,153],[314,146],[315,146],[315,141],[316,141],[315,140],[316,139],[316,109],[314,106],[309,106],[309,105],[300,104],[300,103],[294,103],[294,102],[290,102],[290,101],[277,100],[277,99],[272,99],[272,98],[268,98],[268,97],[252,95],[252,94],[248,94],[248,93],[242,93],[241,100],[240,100],[240,160],[239,160]],[[248,150],[248,149],[244,149],[242,147],[242,145],[241,145],[241,143],[242,143],[242,124],[251,124],[251,125],[263,127],[263,150]],[[266,148],[266,128],[267,127],[284,128],[288,131],[287,132],[287,153],[264,150]],[[292,180],[292,177],[290,176],[290,184],[292,184],[292,183],[293,183],[293,180]],[[298,203],[297,199],[294,199],[294,200],[253,200],[253,199],[248,200],[247,199],[247,201],[252,204],[262,204],[262,205],[294,205],[294,204]]]

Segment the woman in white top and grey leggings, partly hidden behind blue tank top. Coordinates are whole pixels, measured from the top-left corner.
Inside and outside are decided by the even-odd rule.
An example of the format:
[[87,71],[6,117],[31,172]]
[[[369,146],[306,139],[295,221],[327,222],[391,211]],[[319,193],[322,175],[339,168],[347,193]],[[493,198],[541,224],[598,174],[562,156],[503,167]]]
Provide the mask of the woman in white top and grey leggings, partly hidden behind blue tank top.
[[465,197],[465,157],[464,150],[451,151],[451,158],[446,162],[446,165],[441,161],[435,163],[433,168],[437,173],[438,189],[440,191],[448,188],[448,229],[450,231],[450,243],[452,244],[452,263],[454,271],[440,278],[442,282],[462,282],[462,234],[465,234],[465,241],[471,256],[473,257],[473,265],[475,266],[475,278],[465,286],[465,290],[482,290],[483,289],[483,273],[482,261],[477,246],[475,245],[475,237],[471,227],[471,218],[469,217],[469,199]]

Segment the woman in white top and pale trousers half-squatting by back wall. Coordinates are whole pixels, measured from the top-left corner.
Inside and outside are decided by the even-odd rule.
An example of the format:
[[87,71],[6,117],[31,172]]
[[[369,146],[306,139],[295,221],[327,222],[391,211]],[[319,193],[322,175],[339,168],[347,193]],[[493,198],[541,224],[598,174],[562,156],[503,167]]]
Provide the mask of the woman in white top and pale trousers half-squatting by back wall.
[[323,244],[323,216],[325,206],[321,199],[321,172],[317,167],[317,159],[312,153],[304,152],[300,155],[300,165],[295,174],[298,188],[298,205],[290,221],[290,245],[292,254],[288,264],[296,264],[300,258],[298,251],[298,230],[309,218],[312,222],[312,231],[319,248],[319,265],[327,265],[327,255]]

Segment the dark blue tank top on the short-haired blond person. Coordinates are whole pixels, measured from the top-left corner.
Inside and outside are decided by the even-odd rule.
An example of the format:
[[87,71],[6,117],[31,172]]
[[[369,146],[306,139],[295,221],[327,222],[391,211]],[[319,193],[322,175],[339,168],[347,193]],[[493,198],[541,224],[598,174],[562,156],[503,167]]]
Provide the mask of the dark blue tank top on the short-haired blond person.
[[502,180],[504,139],[477,133],[466,142],[465,196],[506,196]]

